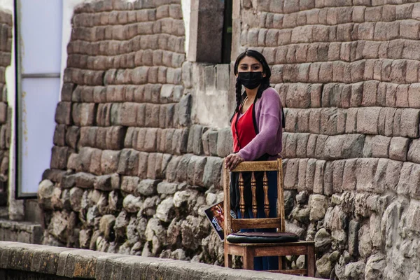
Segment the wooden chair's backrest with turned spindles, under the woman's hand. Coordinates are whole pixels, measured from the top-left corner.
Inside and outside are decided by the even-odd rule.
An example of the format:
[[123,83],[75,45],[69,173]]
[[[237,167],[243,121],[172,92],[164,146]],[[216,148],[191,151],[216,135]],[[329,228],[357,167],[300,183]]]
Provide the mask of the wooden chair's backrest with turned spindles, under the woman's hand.
[[269,215],[268,200],[268,180],[267,171],[277,172],[277,213],[276,218],[232,218],[230,216],[230,171],[223,165],[223,191],[225,194],[225,237],[234,231],[247,228],[276,228],[278,232],[285,231],[284,223],[284,196],[283,196],[283,165],[281,159],[262,161],[262,162],[241,162],[232,172],[239,172],[239,209],[242,217],[245,212],[244,201],[244,179],[241,172],[252,172],[251,175],[251,195],[252,212],[257,216],[256,182],[254,172],[264,172],[262,188],[264,191],[264,211],[265,216]]

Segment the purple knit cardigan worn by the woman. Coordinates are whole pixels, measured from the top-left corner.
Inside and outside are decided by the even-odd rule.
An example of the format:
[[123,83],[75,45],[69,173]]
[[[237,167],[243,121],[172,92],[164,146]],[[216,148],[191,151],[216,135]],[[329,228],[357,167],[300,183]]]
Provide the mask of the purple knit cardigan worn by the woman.
[[246,161],[255,160],[268,153],[269,160],[281,158],[281,101],[279,93],[272,87],[262,92],[261,98],[255,102],[255,119],[259,133],[238,155]]

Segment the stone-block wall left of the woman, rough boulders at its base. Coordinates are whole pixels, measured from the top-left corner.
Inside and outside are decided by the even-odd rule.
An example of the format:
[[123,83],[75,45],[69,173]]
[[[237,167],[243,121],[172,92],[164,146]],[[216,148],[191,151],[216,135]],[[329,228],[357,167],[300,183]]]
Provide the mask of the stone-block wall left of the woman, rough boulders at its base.
[[184,40],[180,0],[76,8],[38,191],[44,244],[223,263],[202,209],[223,199],[232,140],[191,124]]

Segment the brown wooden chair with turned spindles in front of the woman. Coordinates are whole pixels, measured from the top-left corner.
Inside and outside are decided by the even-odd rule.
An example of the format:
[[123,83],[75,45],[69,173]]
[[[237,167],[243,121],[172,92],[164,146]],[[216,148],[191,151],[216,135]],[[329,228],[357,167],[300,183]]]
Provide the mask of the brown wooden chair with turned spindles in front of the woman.
[[[230,172],[223,165],[223,191],[225,193],[225,267],[232,267],[232,255],[243,257],[244,269],[253,269],[253,258],[262,256],[279,256],[279,270],[269,270],[269,272],[280,272],[285,274],[303,274],[307,276],[315,275],[315,255],[314,242],[295,241],[287,243],[232,243],[227,240],[231,232],[248,228],[276,228],[277,232],[285,231],[284,223],[284,198],[283,198],[283,167],[281,159],[265,162],[241,162],[232,172],[252,172],[251,193],[253,216],[257,214],[257,200],[255,195],[256,183],[254,172],[264,172],[263,190],[265,195],[264,209],[265,216],[268,216],[268,180],[267,171],[276,171],[277,175],[277,218],[232,218],[230,216]],[[245,212],[244,202],[244,181],[239,174],[239,209],[242,217]],[[232,231],[234,229],[234,231]],[[286,269],[286,255],[305,255],[305,269]]]

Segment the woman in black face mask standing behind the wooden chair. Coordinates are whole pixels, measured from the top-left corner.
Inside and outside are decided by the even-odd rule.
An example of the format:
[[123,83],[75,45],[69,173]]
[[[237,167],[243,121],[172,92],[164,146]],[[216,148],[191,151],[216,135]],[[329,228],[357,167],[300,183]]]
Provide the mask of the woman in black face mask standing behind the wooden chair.
[[[235,62],[237,106],[232,116],[233,151],[225,159],[232,170],[243,161],[276,160],[280,157],[283,114],[279,94],[269,86],[271,71],[265,57],[255,50],[242,52]],[[244,85],[245,92],[241,92]],[[251,208],[251,174],[244,172],[245,216],[253,217]],[[269,218],[276,217],[277,174],[267,172]],[[262,172],[255,172],[258,218],[265,218]],[[232,173],[231,205],[239,218],[237,174]],[[234,191],[235,190],[235,191]],[[257,230],[255,230],[257,231]],[[265,230],[266,232],[269,230]],[[275,231],[275,230],[274,230]],[[278,269],[277,257],[254,258],[255,270]]]

